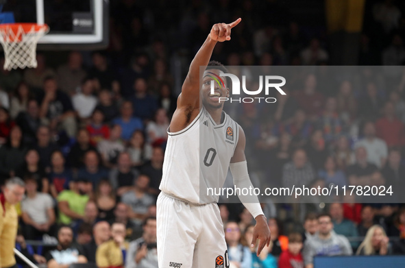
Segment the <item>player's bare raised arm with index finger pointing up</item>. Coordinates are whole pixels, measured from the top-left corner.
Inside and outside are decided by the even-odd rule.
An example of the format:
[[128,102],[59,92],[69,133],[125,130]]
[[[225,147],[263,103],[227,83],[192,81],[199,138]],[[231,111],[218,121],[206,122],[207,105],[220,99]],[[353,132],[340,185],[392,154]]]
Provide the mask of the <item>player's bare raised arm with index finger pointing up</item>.
[[177,99],[177,109],[173,114],[170,124],[170,131],[177,132],[183,130],[189,125],[199,113],[199,90],[201,88],[202,75],[204,70],[200,66],[207,66],[210,62],[212,51],[217,42],[223,42],[231,39],[231,29],[241,22],[241,18],[233,23],[217,23],[212,26],[210,34],[201,46],[193,61],[184,80],[182,93]]

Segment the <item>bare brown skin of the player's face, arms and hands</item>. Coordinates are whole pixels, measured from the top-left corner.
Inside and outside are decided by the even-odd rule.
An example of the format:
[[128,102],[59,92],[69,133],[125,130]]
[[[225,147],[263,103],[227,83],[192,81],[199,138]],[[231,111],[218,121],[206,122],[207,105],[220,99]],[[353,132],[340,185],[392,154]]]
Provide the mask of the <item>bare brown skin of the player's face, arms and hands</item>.
[[[200,69],[200,66],[208,65],[212,51],[217,42],[230,40],[231,29],[240,22],[241,19],[237,19],[233,23],[217,23],[212,26],[206,41],[191,62],[186,80],[184,80],[182,93],[177,99],[177,108],[170,123],[171,132],[184,130],[184,128],[190,125],[199,114],[199,110],[203,105],[210,113],[215,123],[221,123],[223,102],[219,102],[218,97],[229,97],[230,90],[226,84],[224,87],[214,83],[214,93],[217,93],[217,95],[211,95],[210,83],[212,78],[208,76],[208,72],[219,75],[221,71],[218,69],[207,69],[206,71],[203,71],[205,68]],[[223,79],[223,81],[225,82],[225,79]],[[238,143],[236,144],[234,156],[230,161],[231,163],[243,162],[246,160],[246,137],[245,132],[243,132],[241,127],[239,127],[239,133],[240,136],[238,138]],[[262,252],[265,245],[269,246],[270,241],[270,230],[267,225],[267,219],[265,215],[258,215],[256,217],[256,226],[253,231],[253,239],[251,241],[251,247],[254,247],[256,243],[258,243],[257,256]]]

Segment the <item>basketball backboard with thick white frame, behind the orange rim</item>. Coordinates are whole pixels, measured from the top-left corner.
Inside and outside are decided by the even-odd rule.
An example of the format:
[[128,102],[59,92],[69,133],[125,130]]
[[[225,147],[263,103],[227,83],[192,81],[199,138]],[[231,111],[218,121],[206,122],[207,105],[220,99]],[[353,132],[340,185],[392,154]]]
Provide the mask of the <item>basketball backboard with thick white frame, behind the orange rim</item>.
[[108,46],[108,0],[8,0],[16,23],[46,23],[37,49],[103,49]]

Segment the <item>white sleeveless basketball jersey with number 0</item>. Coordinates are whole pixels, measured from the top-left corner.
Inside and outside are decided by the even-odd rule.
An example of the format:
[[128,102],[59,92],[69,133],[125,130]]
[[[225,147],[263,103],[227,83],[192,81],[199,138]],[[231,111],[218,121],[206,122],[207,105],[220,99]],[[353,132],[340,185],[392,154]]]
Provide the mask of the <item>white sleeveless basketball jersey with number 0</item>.
[[225,112],[217,125],[203,107],[184,130],[168,132],[160,190],[191,203],[218,202],[219,196],[212,193],[225,182],[238,127]]

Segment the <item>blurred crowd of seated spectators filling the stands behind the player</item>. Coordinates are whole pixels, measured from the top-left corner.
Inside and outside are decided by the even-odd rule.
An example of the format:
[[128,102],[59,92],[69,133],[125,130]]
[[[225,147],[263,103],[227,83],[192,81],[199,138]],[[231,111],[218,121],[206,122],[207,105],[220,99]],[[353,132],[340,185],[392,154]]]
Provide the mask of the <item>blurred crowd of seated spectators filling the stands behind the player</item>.
[[[398,3],[375,2],[365,15],[358,64],[402,65]],[[224,65],[333,64],[326,30],[291,20],[280,1],[111,5],[105,51],[71,51],[57,66],[38,53],[36,69],[0,70],[0,178],[24,180],[17,243],[50,268],[157,267],[167,127],[189,62],[213,23],[243,18],[232,41],[214,49],[212,59]],[[393,186],[397,202],[349,195],[326,206],[317,197],[263,202],[272,243],[258,257],[249,247],[249,212],[221,204],[231,265],[311,267],[317,255],[405,254],[405,209],[395,191],[405,188],[404,69],[381,74],[365,67],[334,83],[308,72],[299,81],[276,103],[230,111],[245,131],[260,187]]]

